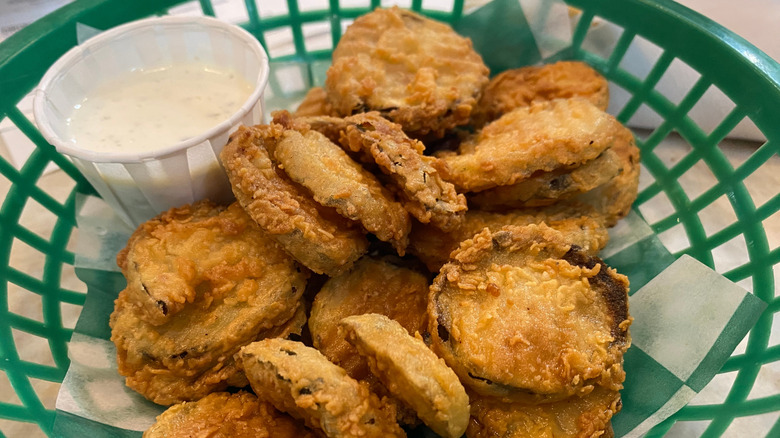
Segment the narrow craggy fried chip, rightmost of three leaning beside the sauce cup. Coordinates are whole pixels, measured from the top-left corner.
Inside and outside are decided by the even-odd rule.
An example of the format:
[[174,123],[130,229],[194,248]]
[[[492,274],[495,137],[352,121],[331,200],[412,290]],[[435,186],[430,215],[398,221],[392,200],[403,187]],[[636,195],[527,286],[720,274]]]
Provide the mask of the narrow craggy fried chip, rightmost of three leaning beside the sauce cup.
[[345,119],[343,146],[369,155],[401,193],[404,207],[422,223],[451,230],[463,221],[466,198],[444,181],[422,154],[425,146],[406,136],[401,126],[379,113],[357,114]]

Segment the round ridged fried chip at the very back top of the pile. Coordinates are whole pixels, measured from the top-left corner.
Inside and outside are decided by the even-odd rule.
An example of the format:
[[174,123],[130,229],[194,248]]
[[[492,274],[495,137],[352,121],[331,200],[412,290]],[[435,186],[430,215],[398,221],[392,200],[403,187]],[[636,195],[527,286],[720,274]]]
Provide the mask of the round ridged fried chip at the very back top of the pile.
[[333,51],[325,90],[342,116],[379,111],[415,136],[468,123],[488,68],[471,40],[414,12],[358,17]]

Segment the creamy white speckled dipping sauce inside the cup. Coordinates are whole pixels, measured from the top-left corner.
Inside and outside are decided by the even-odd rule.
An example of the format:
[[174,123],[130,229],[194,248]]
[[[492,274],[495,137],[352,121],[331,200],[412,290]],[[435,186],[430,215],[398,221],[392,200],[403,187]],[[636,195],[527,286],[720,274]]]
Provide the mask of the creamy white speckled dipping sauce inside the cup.
[[128,72],[75,105],[67,119],[69,137],[97,152],[172,146],[227,120],[252,88],[234,71],[198,63]]

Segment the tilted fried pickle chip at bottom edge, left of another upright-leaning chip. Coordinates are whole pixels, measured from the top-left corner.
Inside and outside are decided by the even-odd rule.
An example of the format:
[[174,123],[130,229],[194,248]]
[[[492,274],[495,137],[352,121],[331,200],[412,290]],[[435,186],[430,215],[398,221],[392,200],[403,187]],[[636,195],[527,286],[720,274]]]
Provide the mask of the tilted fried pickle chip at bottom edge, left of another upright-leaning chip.
[[237,355],[258,398],[329,437],[405,437],[393,409],[314,348],[265,339]]

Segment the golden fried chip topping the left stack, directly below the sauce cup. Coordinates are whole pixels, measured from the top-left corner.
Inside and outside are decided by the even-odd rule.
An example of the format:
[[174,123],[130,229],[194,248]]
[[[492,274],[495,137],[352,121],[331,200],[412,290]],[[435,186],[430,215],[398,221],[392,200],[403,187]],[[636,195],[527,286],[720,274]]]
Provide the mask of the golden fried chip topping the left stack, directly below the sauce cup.
[[259,255],[253,249],[266,241],[240,206],[200,201],[141,224],[117,264],[139,317],[161,325],[199,295],[219,298],[255,281],[251,257]]

